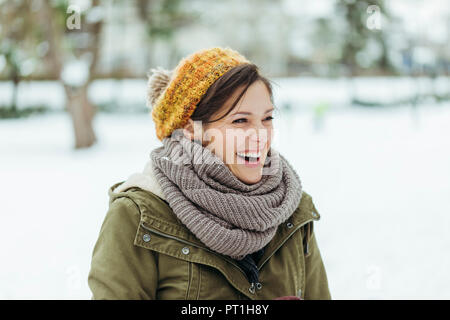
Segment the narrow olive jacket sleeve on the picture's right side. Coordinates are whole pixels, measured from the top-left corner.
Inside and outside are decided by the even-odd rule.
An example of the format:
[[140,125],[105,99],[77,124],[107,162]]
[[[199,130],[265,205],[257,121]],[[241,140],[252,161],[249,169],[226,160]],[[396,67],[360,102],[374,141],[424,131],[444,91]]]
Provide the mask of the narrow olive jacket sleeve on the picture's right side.
[[305,255],[305,300],[331,300],[325,266],[320,255],[315,233],[311,233]]

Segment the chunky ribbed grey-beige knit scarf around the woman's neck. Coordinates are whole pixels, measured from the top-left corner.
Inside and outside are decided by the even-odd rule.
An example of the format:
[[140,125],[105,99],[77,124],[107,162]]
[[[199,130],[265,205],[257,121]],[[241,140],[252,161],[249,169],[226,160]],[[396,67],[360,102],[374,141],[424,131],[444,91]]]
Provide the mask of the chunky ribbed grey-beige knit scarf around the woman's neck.
[[300,203],[302,185],[288,161],[270,148],[259,182],[246,184],[208,148],[172,134],[151,154],[174,214],[208,248],[241,260],[270,242]]

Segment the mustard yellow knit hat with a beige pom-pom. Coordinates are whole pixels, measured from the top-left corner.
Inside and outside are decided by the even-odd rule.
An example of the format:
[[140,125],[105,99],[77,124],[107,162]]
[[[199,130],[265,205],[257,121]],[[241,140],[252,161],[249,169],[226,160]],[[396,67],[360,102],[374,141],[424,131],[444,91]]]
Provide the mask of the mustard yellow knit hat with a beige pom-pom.
[[183,128],[208,88],[233,67],[246,63],[251,62],[229,47],[213,47],[181,59],[173,71],[151,69],[147,106],[152,108],[158,139]]

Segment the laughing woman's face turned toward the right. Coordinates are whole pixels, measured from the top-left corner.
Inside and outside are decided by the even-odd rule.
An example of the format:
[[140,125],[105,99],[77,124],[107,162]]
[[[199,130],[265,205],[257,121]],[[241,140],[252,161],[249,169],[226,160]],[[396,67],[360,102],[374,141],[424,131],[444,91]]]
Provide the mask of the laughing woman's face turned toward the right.
[[[242,90],[243,87],[236,90],[211,120],[225,114]],[[202,143],[220,157],[239,180],[256,183],[262,177],[271,146],[272,112],[267,87],[262,81],[255,81],[226,117],[203,124]]]

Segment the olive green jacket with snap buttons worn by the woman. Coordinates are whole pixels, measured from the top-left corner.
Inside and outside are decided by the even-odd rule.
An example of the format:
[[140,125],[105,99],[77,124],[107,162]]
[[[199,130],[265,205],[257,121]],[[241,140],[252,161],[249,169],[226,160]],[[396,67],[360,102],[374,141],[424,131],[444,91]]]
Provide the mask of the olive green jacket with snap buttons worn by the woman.
[[258,263],[261,287],[251,287],[231,258],[208,249],[169,204],[139,187],[113,192],[95,244],[88,285],[92,299],[331,299],[313,232],[320,218],[303,192]]

